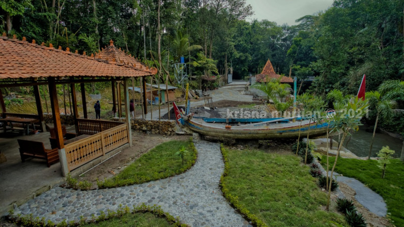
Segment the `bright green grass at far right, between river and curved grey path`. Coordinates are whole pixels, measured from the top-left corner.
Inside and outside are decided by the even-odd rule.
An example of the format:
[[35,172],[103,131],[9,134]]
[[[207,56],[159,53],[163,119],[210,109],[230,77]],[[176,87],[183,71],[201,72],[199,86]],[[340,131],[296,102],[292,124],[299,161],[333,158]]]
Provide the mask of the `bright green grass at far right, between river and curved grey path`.
[[[322,165],[326,168],[326,156],[322,158]],[[334,164],[335,157],[330,157]],[[359,160],[354,158],[338,158],[335,171],[346,177],[355,178],[374,192],[380,194],[387,204],[387,211],[392,224],[404,226],[404,163],[399,159],[392,159],[387,165],[386,176],[382,179],[382,170],[376,160]]]

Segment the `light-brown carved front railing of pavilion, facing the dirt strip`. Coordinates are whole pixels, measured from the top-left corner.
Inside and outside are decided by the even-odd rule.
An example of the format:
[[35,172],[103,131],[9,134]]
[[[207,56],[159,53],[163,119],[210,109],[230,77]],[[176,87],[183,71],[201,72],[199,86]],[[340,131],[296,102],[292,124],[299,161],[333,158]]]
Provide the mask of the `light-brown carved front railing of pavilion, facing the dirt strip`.
[[[100,120],[98,121],[101,123]],[[129,143],[128,126],[125,122],[124,124],[119,123],[118,126],[111,127],[93,136],[66,144],[65,152],[69,171]],[[101,125],[104,124],[101,123]]]

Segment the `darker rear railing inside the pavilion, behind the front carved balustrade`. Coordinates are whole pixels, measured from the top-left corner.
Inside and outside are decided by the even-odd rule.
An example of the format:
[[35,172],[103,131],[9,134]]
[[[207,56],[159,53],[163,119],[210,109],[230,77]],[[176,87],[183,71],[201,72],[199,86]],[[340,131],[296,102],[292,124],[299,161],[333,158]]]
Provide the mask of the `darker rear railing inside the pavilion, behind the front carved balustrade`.
[[95,135],[109,128],[125,124],[125,122],[119,122],[119,121],[92,120],[82,118],[77,118],[77,122],[78,122],[78,134],[80,135],[82,134]]

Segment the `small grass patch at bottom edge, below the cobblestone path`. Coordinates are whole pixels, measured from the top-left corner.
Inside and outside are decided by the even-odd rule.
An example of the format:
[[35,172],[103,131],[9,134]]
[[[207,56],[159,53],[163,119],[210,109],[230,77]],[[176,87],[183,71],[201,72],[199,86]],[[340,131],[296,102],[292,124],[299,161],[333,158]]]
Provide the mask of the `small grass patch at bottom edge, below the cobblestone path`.
[[152,213],[134,213],[134,214],[124,214],[121,217],[113,217],[111,219],[100,221],[97,223],[88,223],[84,225],[85,227],[154,227],[154,226],[174,226],[168,223],[165,218],[156,217]]

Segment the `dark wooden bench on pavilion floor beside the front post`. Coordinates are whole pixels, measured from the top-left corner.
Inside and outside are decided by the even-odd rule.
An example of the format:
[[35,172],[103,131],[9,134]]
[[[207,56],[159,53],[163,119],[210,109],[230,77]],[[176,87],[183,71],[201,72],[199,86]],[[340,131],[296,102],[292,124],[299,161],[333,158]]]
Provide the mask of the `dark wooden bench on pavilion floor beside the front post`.
[[46,160],[46,164],[50,167],[51,164],[57,163],[59,161],[59,153],[57,148],[55,149],[45,149],[42,142],[31,141],[31,140],[17,140],[20,146],[20,155],[22,162],[25,158],[33,157]]

